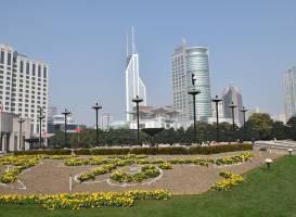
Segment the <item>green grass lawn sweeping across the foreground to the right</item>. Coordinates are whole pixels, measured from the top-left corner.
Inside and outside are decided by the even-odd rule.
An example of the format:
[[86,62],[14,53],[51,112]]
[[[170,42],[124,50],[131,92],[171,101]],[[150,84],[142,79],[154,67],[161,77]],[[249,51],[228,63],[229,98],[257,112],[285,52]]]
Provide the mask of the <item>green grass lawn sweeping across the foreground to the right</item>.
[[296,156],[285,156],[256,168],[230,192],[173,196],[169,201],[141,201],[133,207],[46,210],[36,205],[0,205],[0,216],[42,217],[296,217]]

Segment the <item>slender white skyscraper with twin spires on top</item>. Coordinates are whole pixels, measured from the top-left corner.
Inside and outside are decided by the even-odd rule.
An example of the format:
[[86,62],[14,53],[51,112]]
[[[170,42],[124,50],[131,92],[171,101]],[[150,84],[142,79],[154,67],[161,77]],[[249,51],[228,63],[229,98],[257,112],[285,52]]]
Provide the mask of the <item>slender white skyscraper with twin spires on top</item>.
[[146,87],[139,75],[139,54],[136,51],[133,42],[133,28],[131,33],[131,54],[129,54],[129,44],[127,38],[127,67],[126,67],[126,105],[127,105],[127,122],[132,120],[132,112],[134,103],[131,101],[139,95],[143,99],[141,105],[146,105]]

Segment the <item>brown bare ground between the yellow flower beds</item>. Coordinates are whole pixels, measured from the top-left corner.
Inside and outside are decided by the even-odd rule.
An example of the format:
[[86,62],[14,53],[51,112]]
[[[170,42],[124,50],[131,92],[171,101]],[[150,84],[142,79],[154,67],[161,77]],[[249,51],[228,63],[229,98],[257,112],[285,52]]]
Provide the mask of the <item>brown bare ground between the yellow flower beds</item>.
[[[240,152],[215,154],[215,155],[157,155],[150,156],[150,158],[218,158],[221,156],[232,156],[240,154]],[[125,190],[156,190],[166,189],[173,194],[198,194],[208,191],[210,187],[222,178],[218,173],[222,169],[229,169],[235,174],[244,174],[252,168],[258,167],[265,164],[265,158],[276,158],[280,155],[270,154],[265,152],[259,155],[258,152],[254,152],[255,157],[246,163],[232,165],[232,166],[216,166],[210,165],[195,166],[195,165],[173,165],[173,169],[163,170],[160,177],[156,180],[146,180],[143,183],[137,183],[134,186],[120,186],[118,182],[107,183],[106,179],[110,175],[98,176],[95,182],[78,183],[73,181],[72,192],[98,192],[98,191],[125,191]],[[43,159],[41,164],[26,170],[18,176],[18,182],[3,186],[0,184],[1,194],[10,193],[62,193],[69,192],[69,176],[73,177],[89,171],[98,166],[76,166],[65,167],[59,166],[63,159]],[[137,168],[137,165],[130,167],[123,167],[120,169],[125,171],[131,171],[130,168]],[[0,174],[3,171],[3,167],[0,167]],[[151,182],[153,181],[153,182]],[[149,183],[151,182],[151,183]],[[114,186],[116,184],[116,186]],[[24,187],[26,187],[24,189]],[[22,189],[23,188],[23,189]]]

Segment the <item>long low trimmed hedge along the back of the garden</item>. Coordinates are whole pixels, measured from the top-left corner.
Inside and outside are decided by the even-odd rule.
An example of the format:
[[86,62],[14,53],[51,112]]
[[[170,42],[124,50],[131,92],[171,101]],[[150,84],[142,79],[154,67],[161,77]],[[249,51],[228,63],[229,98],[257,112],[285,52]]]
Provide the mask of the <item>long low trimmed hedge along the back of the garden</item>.
[[[123,149],[80,149],[75,150],[77,155],[125,155],[125,154],[147,154],[147,155],[191,155],[191,154],[217,154],[223,152],[253,150],[250,143],[244,144],[220,144],[210,146],[171,146],[171,148],[123,148]],[[24,154],[48,154],[48,155],[67,155],[70,150],[38,150],[20,151],[16,155]]]

